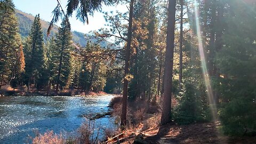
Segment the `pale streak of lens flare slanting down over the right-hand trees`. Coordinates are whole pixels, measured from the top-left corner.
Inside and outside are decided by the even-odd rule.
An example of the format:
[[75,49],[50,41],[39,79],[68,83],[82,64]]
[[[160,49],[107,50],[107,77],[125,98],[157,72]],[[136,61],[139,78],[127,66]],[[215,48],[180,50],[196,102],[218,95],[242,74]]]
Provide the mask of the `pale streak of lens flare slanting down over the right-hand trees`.
[[203,46],[203,42],[202,42],[201,28],[199,26],[198,4],[196,1],[195,1],[195,19],[196,19],[196,34],[197,34],[197,39],[198,39],[198,51],[199,51],[200,60],[201,60],[201,67],[202,67],[202,71],[203,71],[204,82],[205,82],[206,91],[207,91],[207,97],[208,97],[208,100],[210,103],[210,109],[212,111],[213,120],[214,120],[214,122],[217,122],[217,107],[214,102],[212,86],[211,86],[209,73],[207,70],[206,62],[205,62],[204,46]]

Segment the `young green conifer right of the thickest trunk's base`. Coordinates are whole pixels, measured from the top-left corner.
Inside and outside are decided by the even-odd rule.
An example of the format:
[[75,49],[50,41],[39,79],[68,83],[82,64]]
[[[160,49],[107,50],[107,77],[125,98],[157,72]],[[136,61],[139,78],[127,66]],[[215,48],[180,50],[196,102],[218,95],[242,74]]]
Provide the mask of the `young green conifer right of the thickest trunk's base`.
[[[174,121],[178,124],[209,122],[212,120],[212,113],[206,96],[196,37],[187,33],[183,44],[183,53],[187,60],[183,65],[183,89],[174,93],[178,95],[178,106],[173,109]],[[177,81],[173,83],[178,87]]]

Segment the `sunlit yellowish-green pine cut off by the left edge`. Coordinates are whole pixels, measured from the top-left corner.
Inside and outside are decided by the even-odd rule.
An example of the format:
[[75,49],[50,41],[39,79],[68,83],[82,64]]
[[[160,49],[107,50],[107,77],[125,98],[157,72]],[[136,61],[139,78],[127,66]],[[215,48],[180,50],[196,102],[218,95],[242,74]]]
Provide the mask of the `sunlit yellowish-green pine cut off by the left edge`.
[[[9,84],[24,68],[14,4],[0,2],[0,86]],[[21,56],[21,57],[20,57]],[[20,59],[21,58],[21,59]]]

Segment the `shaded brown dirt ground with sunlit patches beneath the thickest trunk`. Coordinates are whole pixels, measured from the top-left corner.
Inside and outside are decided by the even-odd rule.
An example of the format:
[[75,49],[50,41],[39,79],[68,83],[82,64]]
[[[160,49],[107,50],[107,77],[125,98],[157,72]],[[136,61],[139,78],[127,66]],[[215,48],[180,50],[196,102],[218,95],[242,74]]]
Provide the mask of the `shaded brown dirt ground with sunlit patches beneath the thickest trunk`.
[[[164,125],[155,129],[143,131],[147,143],[236,143],[256,144],[256,137],[232,138],[221,136],[213,123],[191,125]],[[132,140],[130,140],[132,141]],[[128,142],[129,143],[129,142]]]

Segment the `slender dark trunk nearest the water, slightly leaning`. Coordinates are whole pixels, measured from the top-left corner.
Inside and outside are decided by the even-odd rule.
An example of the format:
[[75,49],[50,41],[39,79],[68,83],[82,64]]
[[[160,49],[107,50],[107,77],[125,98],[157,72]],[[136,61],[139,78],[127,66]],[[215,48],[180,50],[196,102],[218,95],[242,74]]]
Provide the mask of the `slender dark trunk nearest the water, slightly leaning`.
[[134,0],[130,2],[130,12],[129,12],[129,26],[127,35],[127,45],[125,49],[125,67],[124,67],[124,85],[123,85],[123,99],[122,99],[122,114],[121,114],[121,127],[124,129],[126,125],[126,108],[127,108],[127,97],[128,97],[128,79],[126,75],[129,74],[130,65],[130,51],[131,51],[131,41],[132,41],[132,16],[133,16],[133,3]]

